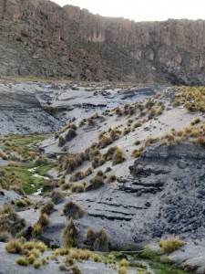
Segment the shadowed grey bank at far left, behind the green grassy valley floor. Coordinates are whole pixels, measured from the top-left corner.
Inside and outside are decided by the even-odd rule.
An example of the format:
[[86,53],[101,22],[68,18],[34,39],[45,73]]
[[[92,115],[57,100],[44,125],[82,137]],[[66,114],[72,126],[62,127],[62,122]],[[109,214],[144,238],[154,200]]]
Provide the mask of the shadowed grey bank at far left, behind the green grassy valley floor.
[[[28,89],[28,90],[26,90]],[[41,106],[35,92],[22,86],[22,90],[9,89],[0,85],[0,132],[8,133],[51,133],[58,130],[63,123],[51,116]]]

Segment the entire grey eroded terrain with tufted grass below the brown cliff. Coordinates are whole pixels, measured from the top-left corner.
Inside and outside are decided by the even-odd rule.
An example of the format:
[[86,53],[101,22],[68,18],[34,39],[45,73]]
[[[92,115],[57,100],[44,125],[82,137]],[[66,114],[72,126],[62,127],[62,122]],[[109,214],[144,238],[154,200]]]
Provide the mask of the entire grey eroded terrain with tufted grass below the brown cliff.
[[204,87],[1,89],[3,273],[203,273]]

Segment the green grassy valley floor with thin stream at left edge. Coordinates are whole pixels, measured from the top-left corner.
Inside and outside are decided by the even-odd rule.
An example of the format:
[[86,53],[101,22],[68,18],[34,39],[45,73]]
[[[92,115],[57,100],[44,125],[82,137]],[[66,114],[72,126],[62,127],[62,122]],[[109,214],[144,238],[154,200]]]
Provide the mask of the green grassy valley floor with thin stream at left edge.
[[[3,155],[6,155],[8,163],[0,167],[0,186],[17,193],[35,193],[45,182],[45,178],[34,176],[38,174],[47,177],[47,172],[55,166],[54,162],[48,162],[40,149],[36,146],[50,137],[50,134],[9,134],[2,137],[0,145]],[[30,169],[36,168],[32,171]],[[22,191],[23,190],[23,191]]]

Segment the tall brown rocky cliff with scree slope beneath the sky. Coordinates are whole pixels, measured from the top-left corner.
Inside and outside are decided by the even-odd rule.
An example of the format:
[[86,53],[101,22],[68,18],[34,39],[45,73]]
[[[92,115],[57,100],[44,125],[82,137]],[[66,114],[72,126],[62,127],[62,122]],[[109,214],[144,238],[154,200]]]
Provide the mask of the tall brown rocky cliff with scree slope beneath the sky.
[[203,20],[135,23],[43,0],[0,0],[0,16],[2,74],[205,83]]

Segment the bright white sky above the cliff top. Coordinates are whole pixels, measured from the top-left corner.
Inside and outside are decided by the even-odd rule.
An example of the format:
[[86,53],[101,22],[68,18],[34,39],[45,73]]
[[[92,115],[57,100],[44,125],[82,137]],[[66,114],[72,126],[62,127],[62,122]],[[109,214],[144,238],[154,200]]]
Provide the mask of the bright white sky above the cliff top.
[[58,5],[77,5],[100,16],[139,21],[205,19],[205,0],[51,0]]

